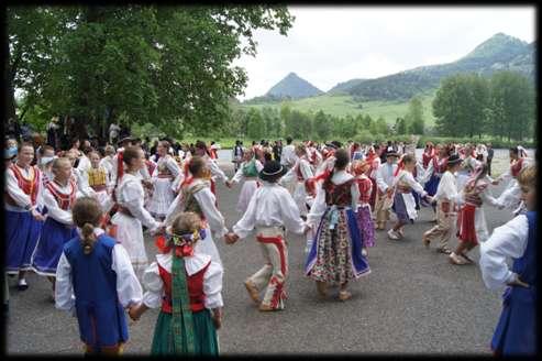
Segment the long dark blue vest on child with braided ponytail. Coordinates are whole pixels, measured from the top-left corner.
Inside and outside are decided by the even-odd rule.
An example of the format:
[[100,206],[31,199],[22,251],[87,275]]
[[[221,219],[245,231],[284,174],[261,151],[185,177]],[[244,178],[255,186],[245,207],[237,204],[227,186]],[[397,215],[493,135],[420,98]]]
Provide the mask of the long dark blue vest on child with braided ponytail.
[[76,237],[64,247],[71,266],[76,311],[81,340],[96,348],[128,340],[128,325],[117,296],[117,274],[111,269],[114,239],[101,234],[90,254]]

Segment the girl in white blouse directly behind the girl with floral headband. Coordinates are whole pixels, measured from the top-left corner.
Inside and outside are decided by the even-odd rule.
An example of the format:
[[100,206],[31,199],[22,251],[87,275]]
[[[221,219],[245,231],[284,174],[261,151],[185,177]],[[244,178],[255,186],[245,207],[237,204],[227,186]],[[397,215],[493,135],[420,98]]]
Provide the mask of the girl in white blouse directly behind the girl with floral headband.
[[217,208],[217,198],[210,189],[211,171],[201,156],[190,158],[189,172],[192,176],[185,178],[180,192],[167,210],[166,225],[182,211],[193,211],[201,217],[202,228],[207,230],[204,239],[198,242],[198,252],[209,254],[214,262],[222,264],[213,238],[222,239],[228,233],[224,217]]

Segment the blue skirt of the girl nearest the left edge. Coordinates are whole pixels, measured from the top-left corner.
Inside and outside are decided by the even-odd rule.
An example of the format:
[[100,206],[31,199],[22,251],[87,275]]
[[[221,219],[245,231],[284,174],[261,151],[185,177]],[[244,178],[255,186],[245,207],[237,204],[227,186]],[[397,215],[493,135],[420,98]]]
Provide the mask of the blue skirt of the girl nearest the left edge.
[[16,273],[31,270],[32,252],[40,238],[43,221],[29,211],[5,210],[5,271]]

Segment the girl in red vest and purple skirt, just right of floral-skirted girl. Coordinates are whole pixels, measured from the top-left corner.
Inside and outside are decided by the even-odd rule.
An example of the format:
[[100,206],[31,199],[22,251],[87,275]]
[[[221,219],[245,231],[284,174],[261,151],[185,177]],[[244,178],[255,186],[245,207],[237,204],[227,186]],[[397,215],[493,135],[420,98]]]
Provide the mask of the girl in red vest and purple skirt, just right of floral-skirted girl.
[[366,161],[354,161],[352,163],[352,173],[355,176],[357,187],[360,188],[360,204],[356,211],[357,226],[362,232],[363,249],[362,254],[367,256],[367,248],[375,245],[375,225],[370,211],[370,194],[373,183],[367,173],[370,164]]

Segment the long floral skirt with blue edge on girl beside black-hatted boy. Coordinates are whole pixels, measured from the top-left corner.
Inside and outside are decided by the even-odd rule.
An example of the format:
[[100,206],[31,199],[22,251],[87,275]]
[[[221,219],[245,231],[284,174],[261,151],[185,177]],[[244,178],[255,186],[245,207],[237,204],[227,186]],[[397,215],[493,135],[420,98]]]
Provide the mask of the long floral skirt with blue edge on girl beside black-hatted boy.
[[[333,221],[334,212],[336,223]],[[344,284],[368,274],[370,270],[367,259],[362,255],[362,234],[352,209],[333,210],[328,207],[308,254],[306,275],[314,281]]]

